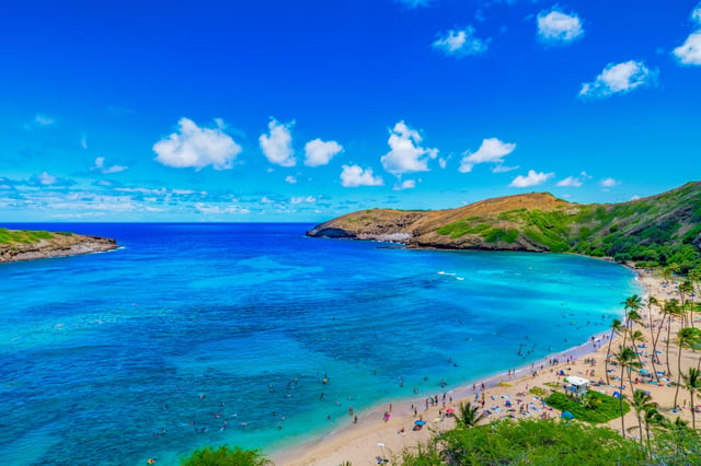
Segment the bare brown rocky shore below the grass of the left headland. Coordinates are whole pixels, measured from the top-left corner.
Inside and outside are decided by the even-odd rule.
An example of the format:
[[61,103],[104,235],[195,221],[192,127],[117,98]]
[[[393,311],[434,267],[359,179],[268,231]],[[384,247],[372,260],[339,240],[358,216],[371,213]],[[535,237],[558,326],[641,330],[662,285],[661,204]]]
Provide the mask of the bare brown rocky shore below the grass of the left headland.
[[51,238],[35,243],[0,244],[0,264],[103,253],[118,247],[117,242],[108,237],[53,233]]

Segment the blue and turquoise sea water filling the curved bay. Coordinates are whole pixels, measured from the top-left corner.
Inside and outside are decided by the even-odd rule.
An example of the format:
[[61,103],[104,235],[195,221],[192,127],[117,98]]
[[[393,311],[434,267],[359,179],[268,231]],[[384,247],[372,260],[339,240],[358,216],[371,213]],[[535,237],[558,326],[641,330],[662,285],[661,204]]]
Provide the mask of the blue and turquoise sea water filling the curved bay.
[[347,424],[348,406],[585,342],[641,291],[601,260],[308,238],[308,224],[8,226],[124,248],[0,265],[5,465],[284,448]]

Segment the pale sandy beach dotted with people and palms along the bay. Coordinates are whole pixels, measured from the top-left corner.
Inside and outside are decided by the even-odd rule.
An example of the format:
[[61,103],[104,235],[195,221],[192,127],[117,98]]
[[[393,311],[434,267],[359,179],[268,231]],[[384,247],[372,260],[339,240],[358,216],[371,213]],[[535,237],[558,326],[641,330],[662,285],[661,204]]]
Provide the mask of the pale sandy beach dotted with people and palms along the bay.
[[[675,290],[675,283],[665,283],[662,277],[654,276],[647,271],[639,271],[637,280],[645,288],[646,295],[643,296],[645,304],[648,296],[654,296],[660,302],[679,298],[678,292]],[[640,310],[640,314],[643,317],[644,326],[636,326],[635,329],[644,333],[645,342],[639,342],[637,350],[644,368],[652,373],[652,336],[653,334],[656,335],[659,325],[663,325],[662,314],[657,307],[653,306],[651,308],[646,305]],[[698,322],[699,318],[696,317],[696,321]],[[666,325],[666,322],[664,325]],[[663,328],[657,345],[659,363],[656,369],[657,371],[666,371],[666,359],[668,357],[674,374],[673,381],[676,380],[677,375],[678,347],[674,343],[674,338],[678,328],[679,323],[673,323],[673,342],[669,345],[669,354],[664,353],[666,350],[666,326]],[[622,343],[619,338],[613,338],[611,352],[618,351],[619,345]],[[482,422],[490,422],[504,417],[515,419],[559,418],[560,411],[545,406],[539,396],[529,393],[529,391],[533,387],[540,387],[550,393],[553,386],[559,386],[560,391],[562,391],[563,378],[567,375],[576,375],[595,384],[590,385],[589,389],[608,395],[613,394],[613,392],[620,389],[621,382],[617,376],[617,374],[620,374],[620,370],[616,365],[609,366],[610,384],[606,384],[605,361],[608,346],[609,336],[599,335],[577,348],[551,354],[545,360],[538,361],[531,366],[516,370],[515,373],[509,370],[505,374],[489,380],[475,381],[474,385],[463,386],[445,394],[437,392],[433,395],[434,403],[428,403],[428,397],[418,397],[388,406],[377,406],[372,409],[357,412],[357,423],[354,423],[353,417],[349,416],[348,426],[345,428],[334,431],[321,440],[299,445],[295,450],[278,452],[271,456],[275,464],[290,466],[336,466],[344,462],[352,462],[353,465],[376,465],[378,456],[391,459],[393,454],[398,454],[404,447],[411,447],[418,442],[426,441],[439,431],[452,429],[456,421],[452,417],[446,416],[446,410],[457,410],[460,403],[467,401],[476,404],[487,413]],[[690,350],[685,350],[681,356],[682,370],[691,365],[696,366],[698,354],[692,353]],[[691,420],[689,394],[683,388],[679,389],[678,395],[678,405],[681,408],[673,411],[676,388],[671,386],[669,378],[663,376],[659,383],[654,377],[645,377],[645,380],[635,382],[634,374],[633,380],[633,387],[648,391],[654,401],[659,405],[660,412],[669,419],[674,420],[679,416],[681,419]],[[599,382],[604,383],[596,385]],[[624,393],[630,394],[628,380],[623,382],[623,385],[625,386]],[[484,399],[483,405],[482,399]],[[387,419],[388,413],[390,415],[389,419]],[[416,420],[425,421],[426,426],[418,431],[413,430]],[[612,429],[620,430],[620,418],[610,421],[609,426]],[[633,410],[627,415],[625,426],[627,428],[637,426]],[[628,434],[635,438],[639,435],[635,430],[628,432]]]

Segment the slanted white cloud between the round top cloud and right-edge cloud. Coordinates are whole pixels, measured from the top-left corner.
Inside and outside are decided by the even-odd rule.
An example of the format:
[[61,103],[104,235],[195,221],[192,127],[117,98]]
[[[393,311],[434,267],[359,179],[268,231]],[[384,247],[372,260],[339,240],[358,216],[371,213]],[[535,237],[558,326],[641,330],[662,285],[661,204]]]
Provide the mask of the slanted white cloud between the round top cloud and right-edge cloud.
[[605,98],[613,94],[625,94],[642,85],[657,82],[657,70],[648,69],[642,61],[609,63],[594,82],[582,84],[581,97]]

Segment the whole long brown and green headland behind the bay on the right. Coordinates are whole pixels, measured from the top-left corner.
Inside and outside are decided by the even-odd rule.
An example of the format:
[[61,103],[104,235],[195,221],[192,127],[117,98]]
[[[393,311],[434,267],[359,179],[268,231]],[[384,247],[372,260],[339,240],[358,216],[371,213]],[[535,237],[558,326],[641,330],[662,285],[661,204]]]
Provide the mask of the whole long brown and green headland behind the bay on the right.
[[582,205],[531,193],[448,210],[369,209],[307,234],[417,248],[577,253],[674,264],[687,272],[701,266],[701,182],[621,203]]

